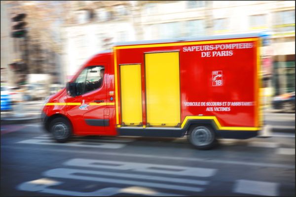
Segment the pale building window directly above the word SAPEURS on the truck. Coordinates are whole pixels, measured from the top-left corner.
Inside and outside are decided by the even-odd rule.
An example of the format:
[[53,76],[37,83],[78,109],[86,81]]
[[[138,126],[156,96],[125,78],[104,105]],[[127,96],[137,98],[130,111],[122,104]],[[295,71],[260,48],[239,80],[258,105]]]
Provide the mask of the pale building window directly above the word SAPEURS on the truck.
[[186,21],[186,36],[197,36],[205,34],[204,20]]

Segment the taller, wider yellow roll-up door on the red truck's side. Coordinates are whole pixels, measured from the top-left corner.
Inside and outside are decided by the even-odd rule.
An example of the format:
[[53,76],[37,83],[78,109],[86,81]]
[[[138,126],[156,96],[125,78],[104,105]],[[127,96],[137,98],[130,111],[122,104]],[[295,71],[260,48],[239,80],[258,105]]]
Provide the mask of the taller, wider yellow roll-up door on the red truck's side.
[[180,120],[179,52],[145,54],[147,123],[177,126]]

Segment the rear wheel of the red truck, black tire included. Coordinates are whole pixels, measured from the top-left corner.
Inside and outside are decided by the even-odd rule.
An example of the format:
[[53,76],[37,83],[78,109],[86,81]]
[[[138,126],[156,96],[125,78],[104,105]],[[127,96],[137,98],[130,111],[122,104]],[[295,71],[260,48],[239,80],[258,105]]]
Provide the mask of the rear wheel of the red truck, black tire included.
[[217,145],[216,133],[209,126],[195,125],[189,128],[188,141],[197,149],[209,150]]

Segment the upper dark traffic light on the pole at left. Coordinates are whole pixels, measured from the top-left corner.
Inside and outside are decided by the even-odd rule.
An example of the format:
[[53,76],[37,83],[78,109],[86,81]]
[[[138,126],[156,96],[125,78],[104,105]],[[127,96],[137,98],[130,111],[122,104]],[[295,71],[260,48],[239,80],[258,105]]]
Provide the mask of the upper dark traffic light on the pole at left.
[[17,22],[15,25],[12,26],[12,37],[25,37],[27,34],[27,30],[25,29],[25,26],[27,23],[24,20],[26,18],[27,14],[21,13],[17,14],[12,18],[12,22]]

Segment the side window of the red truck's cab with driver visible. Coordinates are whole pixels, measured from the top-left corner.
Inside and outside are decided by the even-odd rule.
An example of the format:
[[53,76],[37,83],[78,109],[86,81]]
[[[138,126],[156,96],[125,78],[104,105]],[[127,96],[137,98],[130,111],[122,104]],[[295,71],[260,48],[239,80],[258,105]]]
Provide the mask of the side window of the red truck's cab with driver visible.
[[99,89],[103,85],[104,66],[89,66],[75,80],[76,96]]

